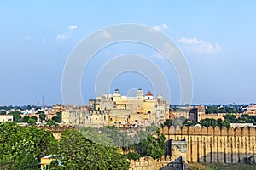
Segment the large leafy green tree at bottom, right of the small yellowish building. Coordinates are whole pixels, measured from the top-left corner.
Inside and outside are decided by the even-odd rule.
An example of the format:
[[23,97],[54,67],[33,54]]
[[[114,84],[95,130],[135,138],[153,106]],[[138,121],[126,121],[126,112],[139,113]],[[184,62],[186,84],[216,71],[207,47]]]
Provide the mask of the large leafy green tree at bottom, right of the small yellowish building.
[[125,156],[116,148],[95,144],[77,130],[62,133],[59,169],[129,169]]

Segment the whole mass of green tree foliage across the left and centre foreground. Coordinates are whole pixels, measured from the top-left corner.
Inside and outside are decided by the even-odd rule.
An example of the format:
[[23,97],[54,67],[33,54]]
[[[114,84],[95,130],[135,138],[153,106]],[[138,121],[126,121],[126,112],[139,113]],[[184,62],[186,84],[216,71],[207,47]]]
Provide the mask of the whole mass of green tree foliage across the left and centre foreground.
[[[114,138],[117,132],[113,128],[99,130],[103,135],[93,127],[67,130],[57,142],[49,131],[4,122],[0,124],[0,169],[39,169],[40,158],[49,154],[57,160],[52,162],[51,169],[129,169],[127,158],[158,159],[164,155],[165,138],[159,135],[157,127],[137,132],[137,137],[142,139],[139,144],[127,132],[118,131],[118,137]],[[121,149],[128,155],[122,155],[119,147],[109,147],[107,143],[122,145]]]

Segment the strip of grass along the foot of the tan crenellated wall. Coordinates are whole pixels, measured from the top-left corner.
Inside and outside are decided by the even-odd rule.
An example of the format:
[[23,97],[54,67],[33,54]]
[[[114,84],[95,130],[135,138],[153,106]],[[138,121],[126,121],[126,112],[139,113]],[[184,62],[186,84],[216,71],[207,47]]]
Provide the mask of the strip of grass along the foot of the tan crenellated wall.
[[189,163],[192,170],[255,170],[256,165],[227,163]]

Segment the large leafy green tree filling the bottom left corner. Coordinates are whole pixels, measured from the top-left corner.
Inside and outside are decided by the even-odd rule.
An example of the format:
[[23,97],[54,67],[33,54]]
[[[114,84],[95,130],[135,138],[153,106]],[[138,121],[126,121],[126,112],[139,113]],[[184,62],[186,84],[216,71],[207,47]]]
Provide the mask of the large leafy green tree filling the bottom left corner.
[[20,127],[15,122],[0,124],[0,169],[39,169],[40,158],[57,150],[49,131]]

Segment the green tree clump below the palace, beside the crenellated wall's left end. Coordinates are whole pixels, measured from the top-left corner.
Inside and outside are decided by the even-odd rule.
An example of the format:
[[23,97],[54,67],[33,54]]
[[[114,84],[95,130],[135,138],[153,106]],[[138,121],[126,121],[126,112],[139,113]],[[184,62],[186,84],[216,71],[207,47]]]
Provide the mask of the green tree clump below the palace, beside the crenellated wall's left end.
[[159,159],[165,154],[165,136],[160,135],[159,128],[154,124],[144,130],[137,129],[137,132],[132,128],[120,131],[116,127],[81,127],[79,133],[96,144],[121,148],[132,160],[142,156]]

